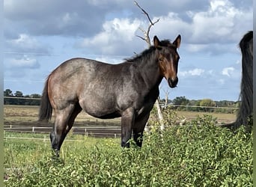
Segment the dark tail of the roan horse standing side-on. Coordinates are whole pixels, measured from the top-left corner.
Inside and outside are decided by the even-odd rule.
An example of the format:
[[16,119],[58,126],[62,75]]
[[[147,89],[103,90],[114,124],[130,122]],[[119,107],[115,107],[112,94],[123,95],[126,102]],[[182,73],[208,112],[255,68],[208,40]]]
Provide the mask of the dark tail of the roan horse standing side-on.
[[43,96],[40,104],[40,111],[39,111],[39,120],[50,120],[52,117],[52,105],[49,102],[49,95],[48,95],[48,82],[49,77],[46,80],[46,84],[43,88]]

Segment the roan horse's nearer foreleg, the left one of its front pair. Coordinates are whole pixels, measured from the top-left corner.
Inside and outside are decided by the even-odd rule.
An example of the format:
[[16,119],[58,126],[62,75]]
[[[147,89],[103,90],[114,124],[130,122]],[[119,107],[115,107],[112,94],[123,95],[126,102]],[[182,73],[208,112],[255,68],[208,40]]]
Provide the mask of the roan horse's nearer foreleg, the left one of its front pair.
[[134,108],[127,108],[121,115],[121,146],[129,147],[134,123]]

